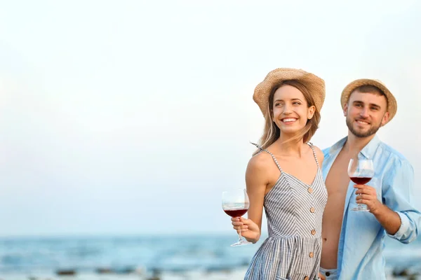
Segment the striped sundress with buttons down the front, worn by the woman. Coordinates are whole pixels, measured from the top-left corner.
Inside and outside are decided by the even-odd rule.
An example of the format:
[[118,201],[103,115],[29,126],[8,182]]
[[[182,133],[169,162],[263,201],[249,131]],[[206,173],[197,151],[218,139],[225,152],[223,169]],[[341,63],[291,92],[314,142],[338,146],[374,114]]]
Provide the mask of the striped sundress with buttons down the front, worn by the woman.
[[283,172],[265,195],[269,237],[255,253],[245,280],[319,279],[321,219],[328,200],[319,162],[312,144],[317,172],[311,185]]

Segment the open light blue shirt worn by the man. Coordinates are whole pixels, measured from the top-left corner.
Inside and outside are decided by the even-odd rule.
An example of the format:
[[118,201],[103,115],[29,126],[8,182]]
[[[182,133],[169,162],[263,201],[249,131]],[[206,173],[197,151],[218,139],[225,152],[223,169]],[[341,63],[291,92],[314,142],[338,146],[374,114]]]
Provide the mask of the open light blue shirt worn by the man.
[[[323,150],[325,181],[346,141],[347,137]],[[358,158],[373,160],[375,174],[367,186],[375,188],[377,199],[399,214],[401,228],[395,235],[388,235],[373,214],[352,211],[356,207],[355,183],[349,181],[338,246],[339,279],[386,279],[382,255],[385,235],[407,244],[417,238],[421,225],[420,211],[413,206],[413,167],[377,135],[361,150]]]

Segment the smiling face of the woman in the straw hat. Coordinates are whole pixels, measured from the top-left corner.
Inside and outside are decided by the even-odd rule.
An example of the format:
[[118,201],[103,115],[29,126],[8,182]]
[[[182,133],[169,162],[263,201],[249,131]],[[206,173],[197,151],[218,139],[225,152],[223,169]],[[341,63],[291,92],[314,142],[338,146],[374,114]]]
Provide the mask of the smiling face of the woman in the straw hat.
[[272,119],[283,134],[300,132],[314,111],[315,107],[308,106],[302,92],[292,85],[282,85],[274,92]]

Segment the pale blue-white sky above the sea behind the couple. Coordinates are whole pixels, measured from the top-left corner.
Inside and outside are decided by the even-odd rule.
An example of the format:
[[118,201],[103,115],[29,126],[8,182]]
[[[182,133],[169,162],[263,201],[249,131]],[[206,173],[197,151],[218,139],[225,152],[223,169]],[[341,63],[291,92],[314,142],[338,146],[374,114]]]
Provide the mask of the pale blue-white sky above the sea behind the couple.
[[347,134],[343,87],[382,80],[419,200],[421,4],[280,2],[0,0],[0,235],[234,235],[221,193],[278,67],[326,81],[320,148]]

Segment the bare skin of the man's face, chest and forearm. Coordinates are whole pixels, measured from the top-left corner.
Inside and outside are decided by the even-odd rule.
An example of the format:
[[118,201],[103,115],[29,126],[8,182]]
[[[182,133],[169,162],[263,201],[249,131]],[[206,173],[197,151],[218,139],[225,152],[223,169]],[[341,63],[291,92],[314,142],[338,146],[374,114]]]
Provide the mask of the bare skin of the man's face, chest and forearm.
[[[334,269],[338,262],[338,244],[345,207],[345,196],[349,185],[347,165],[349,159],[356,158],[361,149],[370,142],[377,130],[389,120],[387,99],[375,93],[352,92],[344,106],[349,129],[348,139],[333,162],[326,178],[328,203],[323,214],[321,267]],[[396,233],[401,225],[399,215],[377,200],[375,188],[355,185],[356,202],[366,204],[389,234]]]

